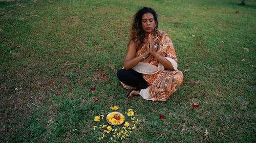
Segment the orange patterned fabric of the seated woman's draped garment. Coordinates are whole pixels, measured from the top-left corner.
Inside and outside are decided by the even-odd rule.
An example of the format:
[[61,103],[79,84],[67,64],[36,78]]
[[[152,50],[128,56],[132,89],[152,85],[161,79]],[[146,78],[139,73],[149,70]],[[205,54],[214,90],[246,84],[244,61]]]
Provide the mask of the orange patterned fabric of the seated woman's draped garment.
[[[173,42],[163,31],[158,31],[155,36],[155,50],[162,56],[173,59],[177,62],[177,56],[173,46]],[[145,43],[144,43],[145,44]],[[136,56],[143,53],[144,47],[136,52]],[[158,66],[159,62],[153,55],[148,56],[145,60],[141,61]],[[143,78],[150,84],[148,87],[148,99],[154,98],[154,101],[166,101],[180,87],[183,81],[183,73],[179,70],[169,71],[164,69],[155,74],[142,74]],[[124,84],[123,84],[124,85]],[[125,85],[124,85],[125,88]]]

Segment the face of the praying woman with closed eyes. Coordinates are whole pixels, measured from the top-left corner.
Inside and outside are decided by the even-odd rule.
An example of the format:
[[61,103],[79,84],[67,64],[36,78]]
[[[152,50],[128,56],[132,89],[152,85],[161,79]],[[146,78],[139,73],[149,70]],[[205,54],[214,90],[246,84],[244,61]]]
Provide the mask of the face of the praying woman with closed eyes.
[[141,25],[144,33],[151,34],[157,25],[152,13],[145,13],[142,15]]

